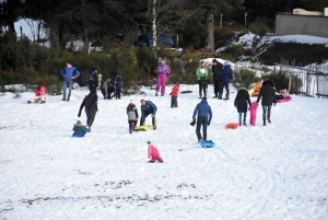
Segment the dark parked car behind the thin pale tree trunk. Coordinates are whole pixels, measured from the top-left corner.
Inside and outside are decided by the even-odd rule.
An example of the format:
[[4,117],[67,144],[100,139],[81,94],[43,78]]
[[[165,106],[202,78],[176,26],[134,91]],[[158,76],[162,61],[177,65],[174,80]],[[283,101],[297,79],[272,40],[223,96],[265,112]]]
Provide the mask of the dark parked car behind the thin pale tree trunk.
[[[134,47],[153,47],[153,35],[152,34],[142,34],[137,37],[134,40]],[[163,47],[164,49],[171,49],[177,53],[178,56],[184,54],[184,49],[179,47],[173,39],[166,35],[157,36],[157,46]]]

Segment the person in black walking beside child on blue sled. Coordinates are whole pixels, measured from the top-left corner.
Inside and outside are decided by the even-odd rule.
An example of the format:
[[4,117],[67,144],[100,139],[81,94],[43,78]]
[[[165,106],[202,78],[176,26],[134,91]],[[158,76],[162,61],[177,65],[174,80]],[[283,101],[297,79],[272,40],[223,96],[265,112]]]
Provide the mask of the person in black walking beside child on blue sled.
[[87,132],[91,131],[91,126],[94,121],[96,112],[98,112],[97,101],[98,101],[98,96],[97,96],[96,90],[92,90],[84,97],[83,102],[80,105],[80,111],[79,111],[78,117],[81,116],[81,112],[82,112],[83,107],[85,106]]

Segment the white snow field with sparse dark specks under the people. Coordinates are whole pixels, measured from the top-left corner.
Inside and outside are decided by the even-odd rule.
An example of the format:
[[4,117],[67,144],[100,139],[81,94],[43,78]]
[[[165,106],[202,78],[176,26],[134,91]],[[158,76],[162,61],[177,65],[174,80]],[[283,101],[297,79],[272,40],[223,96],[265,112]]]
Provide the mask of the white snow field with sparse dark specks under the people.
[[[272,107],[269,126],[259,107],[256,126],[231,130],[235,90],[230,101],[209,97],[215,148],[202,149],[189,125],[198,85],[180,85],[194,93],[179,94],[178,108],[171,90],[110,101],[98,92],[99,112],[81,139],[71,135],[86,89],[43,105],[26,103],[32,92],[1,93],[0,219],[328,219],[327,99],[292,95]],[[140,114],[141,99],[157,106],[157,130],[130,135],[126,107],[134,100]],[[164,163],[148,163],[148,140]]]

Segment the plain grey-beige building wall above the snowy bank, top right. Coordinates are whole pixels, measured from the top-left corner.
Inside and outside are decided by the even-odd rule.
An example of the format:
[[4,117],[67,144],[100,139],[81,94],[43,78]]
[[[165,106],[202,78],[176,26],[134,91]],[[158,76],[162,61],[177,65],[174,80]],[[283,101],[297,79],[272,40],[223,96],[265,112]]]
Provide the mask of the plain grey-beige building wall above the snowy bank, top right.
[[328,38],[328,16],[276,14],[276,35],[295,34]]

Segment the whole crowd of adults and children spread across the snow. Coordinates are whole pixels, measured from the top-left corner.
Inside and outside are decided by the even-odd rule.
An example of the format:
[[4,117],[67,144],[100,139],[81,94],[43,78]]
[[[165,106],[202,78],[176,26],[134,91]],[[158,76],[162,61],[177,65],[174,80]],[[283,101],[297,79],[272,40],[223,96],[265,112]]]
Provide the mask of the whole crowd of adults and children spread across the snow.
[[[229,90],[229,83],[233,79],[233,71],[230,67],[230,62],[226,60],[224,61],[224,65],[219,62],[216,59],[213,59],[212,65],[212,73],[213,73],[213,85],[214,85],[214,97],[219,100],[229,100],[230,99],[230,90]],[[167,80],[167,74],[171,73],[169,67],[165,63],[165,59],[161,60],[161,63],[156,68],[155,72],[157,73],[157,84],[156,84],[156,93],[155,95],[159,95],[159,92],[161,93],[161,96],[165,94],[165,85]],[[65,78],[63,80],[63,97],[62,101],[69,101],[71,96],[71,89],[72,89],[72,81],[73,79],[77,79],[80,76],[80,72],[77,70],[77,68],[72,67],[71,62],[67,62],[67,67],[60,71],[61,76]],[[197,104],[195,107],[194,114],[192,114],[192,121],[190,125],[196,125],[196,136],[198,141],[207,140],[207,127],[210,126],[212,120],[212,109],[211,106],[208,104],[207,95],[208,95],[208,78],[209,78],[209,70],[206,67],[204,61],[201,61],[199,65],[199,68],[196,70],[196,76],[199,84],[199,97],[201,99],[201,102]],[[102,76],[98,73],[96,69],[92,71],[89,78],[89,89],[90,93],[83,99],[78,117],[81,116],[82,109],[85,108],[86,114],[86,126],[83,126],[83,124],[78,120],[77,124],[74,124],[73,130],[77,135],[83,135],[85,132],[91,131],[91,127],[93,125],[93,121],[95,119],[95,115],[98,111],[97,108],[97,89],[101,89],[101,92],[104,96],[104,100],[106,99],[113,99],[114,96],[116,99],[120,99],[120,90],[122,86],[122,81],[120,76],[116,76],[115,82],[113,82],[110,79],[106,80],[101,86]],[[67,89],[69,89],[69,93],[67,95]],[[225,97],[223,99],[223,90],[225,89]],[[257,80],[254,84],[254,91],[258,92],[257,101],[251,103],[249,99],[249,93],[246,89],[242,88],[238,90],[237,95],[234,101],[234,105],[237,108],[238,112],[238,124],[239,126],[244,125],[247,126],[246,118],[247,118],[247,111],[250,111],[250,125],[255,125],[256,123],[256,109],[258,107],[258,103],[261,100],[262,105],[262,120],[263,126],[266,126],[267,121],[271,123],[271,106],[272,104],[276,105],[277,103],[277,94],[276,90],[273,88],[273,84],[271,81],[263,81],[262,83],[260,80]],[[39,83],[38,86],[35,89],[35,97],[28,103],[42,101],[42,103],[45,103],[46,97],[46,88]],[[178,107],[177,104],[177,96],[179,93],[179,84],[178,82],[175,82],[172,92],[169,95],[171,99],[171,107]],[[288,94],[286,90],[283,90],[281,94],[284,95]],[[138,108],[133,101],[130,101],[126,108],[126,113],[128,116],[128,124],[129,124],[129,132],[132,134],[132,131],[136,131],[136,127],[138,124],[138,120],[140,118],[140,126],[144,126],[145,118],[150,115],[152,118],[152,129],[156,130],[156,112],[157,107],[156,105],[151,101],[141,100],[140,101],[140,109],[141,115],[138,114]],[[200,132],[202,127],[202,135]],[[161,159],[156,148],[149,141],[149,157],[152,158],[150,162],[163,162],[163,159]],[[154,153],[151,153],[154,152]]]

